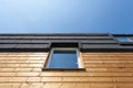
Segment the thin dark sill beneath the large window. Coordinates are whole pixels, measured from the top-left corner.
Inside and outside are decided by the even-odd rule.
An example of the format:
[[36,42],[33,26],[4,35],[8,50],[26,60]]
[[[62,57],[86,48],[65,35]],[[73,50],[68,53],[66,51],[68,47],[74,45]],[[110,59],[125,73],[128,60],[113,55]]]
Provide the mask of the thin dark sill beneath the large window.
[[42,68],[42,70],[61,70],[61,72],[65,72],[65,70],[76,70],[76,72],[82,72],[82,70],[85,70],[85,68]]

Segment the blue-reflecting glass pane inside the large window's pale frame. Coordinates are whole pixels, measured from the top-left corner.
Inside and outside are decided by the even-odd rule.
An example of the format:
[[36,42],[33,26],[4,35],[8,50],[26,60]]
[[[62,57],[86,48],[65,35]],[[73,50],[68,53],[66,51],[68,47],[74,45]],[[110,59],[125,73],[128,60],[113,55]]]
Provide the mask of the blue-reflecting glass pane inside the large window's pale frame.
[[78,68],[75,51],[54,51],[49,68]]

